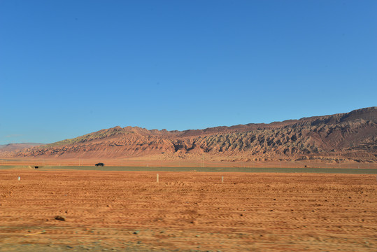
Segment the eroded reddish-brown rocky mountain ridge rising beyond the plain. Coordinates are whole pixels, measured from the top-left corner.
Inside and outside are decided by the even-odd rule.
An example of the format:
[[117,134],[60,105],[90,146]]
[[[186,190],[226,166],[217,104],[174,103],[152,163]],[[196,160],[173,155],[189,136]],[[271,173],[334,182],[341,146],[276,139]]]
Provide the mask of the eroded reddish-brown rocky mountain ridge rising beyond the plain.
[[342,157],[377,161],[377,107],[270,124],[166,131],[113,127],[10,156],[122,158],[166,155],[194,158],[202,153],[227,157],[302,160]]

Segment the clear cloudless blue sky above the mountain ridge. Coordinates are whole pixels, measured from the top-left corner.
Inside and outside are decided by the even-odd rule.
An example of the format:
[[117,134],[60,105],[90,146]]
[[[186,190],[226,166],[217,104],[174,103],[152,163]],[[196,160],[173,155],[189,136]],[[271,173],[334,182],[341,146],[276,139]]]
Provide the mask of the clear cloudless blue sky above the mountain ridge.
[[377,106],[377,1],[0,0],[0,144]]

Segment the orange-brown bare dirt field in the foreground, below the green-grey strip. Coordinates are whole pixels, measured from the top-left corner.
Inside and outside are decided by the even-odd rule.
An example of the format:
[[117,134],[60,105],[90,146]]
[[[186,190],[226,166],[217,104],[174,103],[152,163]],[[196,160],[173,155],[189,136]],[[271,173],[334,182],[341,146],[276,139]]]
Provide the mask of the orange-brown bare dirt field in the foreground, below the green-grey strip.
[[376,175],[8,169],[0,200],[0,251],[377,251]]

